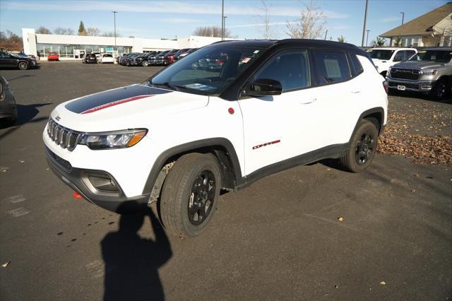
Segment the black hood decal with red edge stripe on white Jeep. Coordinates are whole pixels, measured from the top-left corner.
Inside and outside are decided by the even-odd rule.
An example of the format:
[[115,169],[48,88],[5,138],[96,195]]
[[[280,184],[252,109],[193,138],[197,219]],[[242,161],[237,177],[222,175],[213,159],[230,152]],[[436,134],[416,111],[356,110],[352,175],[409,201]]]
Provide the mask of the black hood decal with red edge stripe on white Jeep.
[[112,107],[114,105],[120,105],[121,103],[171,92],[172,91],[170,90],[152,88],[147,85],[129,85],[124,88],[108,90],[88,95],[83,98],[79,98],[78,100],[73,100],[64,107],[74,113],[87,114],[106,109],[107,107]]

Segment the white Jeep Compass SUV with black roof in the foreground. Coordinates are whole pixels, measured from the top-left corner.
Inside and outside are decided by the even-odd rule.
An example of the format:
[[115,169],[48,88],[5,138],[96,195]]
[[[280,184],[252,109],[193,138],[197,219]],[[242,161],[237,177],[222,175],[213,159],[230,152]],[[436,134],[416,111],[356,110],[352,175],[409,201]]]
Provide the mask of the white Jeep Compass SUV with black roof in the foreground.
[[[224,54],[222,69],[192,69]],[[49,166],[76,194],[116,212],[159,199],[167,231],[191,237],[220,189],[324,158],[369,167],[386,124],[385,83],[347,43],[227,41],[147,83],[63,102],[42,138]]]

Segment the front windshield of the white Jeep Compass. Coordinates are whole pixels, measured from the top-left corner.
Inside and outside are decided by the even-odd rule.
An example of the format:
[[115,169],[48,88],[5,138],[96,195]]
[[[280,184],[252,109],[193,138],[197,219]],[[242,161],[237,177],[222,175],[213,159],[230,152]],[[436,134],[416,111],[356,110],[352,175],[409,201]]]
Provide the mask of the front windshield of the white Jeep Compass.
[[220,95],[266,49],[225,45],[198,49],[148,80],[150,85],[201,95]]

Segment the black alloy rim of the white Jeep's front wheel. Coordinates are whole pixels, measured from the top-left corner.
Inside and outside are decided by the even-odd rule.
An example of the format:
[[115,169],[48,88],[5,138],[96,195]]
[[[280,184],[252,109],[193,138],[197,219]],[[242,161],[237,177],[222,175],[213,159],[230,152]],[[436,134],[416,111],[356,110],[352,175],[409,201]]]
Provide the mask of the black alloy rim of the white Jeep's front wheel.
[[190,223],[201,225],[210,214],[215,201],[215,176],[209,170],[203,170],[196,177],[191,187],[188,202],[188,213]]

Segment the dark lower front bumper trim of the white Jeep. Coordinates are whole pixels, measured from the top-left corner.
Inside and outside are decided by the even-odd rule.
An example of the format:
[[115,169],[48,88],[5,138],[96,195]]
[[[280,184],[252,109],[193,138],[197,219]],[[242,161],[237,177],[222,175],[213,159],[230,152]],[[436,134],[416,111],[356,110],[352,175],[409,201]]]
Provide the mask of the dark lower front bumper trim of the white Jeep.
[[[66,185],[71,187],[78,194],[81,194],[84,199],[90,203],[95,203],[97,206],[105,208],[109,211],[117,213],[126,213],[137,211],[148,203],[150,195],[139,195],[133,197],[126,197],[124,191],[117,184],[116,179],[108,172],[103,170],[87,170],[75,168],[71,163],[60,158],[58,155],[45,148],[47,155],[47,163],[55,175],[61,179]],[[119,188],[119,192],[115,195],[105,195],[105,192],[97,191],[93,185],[89,184],[88,175],[90,174],[108,175],[113,179]],[[101,193],[101,194],[100,194]]]

